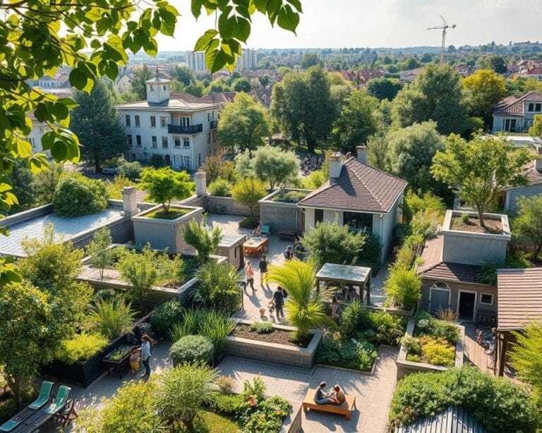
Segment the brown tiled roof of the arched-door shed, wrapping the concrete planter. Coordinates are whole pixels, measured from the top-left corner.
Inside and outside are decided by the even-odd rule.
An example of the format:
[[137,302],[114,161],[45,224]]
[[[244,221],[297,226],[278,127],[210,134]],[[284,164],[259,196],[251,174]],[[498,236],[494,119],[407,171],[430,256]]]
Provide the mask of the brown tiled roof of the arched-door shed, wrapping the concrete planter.
[[475,264],[442,262],[443,236],[427,240],[421,253],[422,264],[416,274],[423,278],[438,281],[454,281],[459,283],[486,284],[478,279],[481,267]]

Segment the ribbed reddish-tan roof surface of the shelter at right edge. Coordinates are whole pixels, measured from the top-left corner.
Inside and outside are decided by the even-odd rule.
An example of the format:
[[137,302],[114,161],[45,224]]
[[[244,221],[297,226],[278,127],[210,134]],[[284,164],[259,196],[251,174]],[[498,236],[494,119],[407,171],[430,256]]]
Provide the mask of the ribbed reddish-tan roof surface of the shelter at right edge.
[[542,268],[498,269],[498,328],[523,329],[542,318]]

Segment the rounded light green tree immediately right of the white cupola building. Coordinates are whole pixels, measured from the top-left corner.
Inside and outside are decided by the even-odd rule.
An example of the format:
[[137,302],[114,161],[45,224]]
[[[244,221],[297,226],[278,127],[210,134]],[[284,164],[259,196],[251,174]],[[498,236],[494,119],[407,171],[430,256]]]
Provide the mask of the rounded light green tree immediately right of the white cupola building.
[[242,152],[254,150],[269,135],[267,118],[262,104],[248,94],[238,93],[222,111],[217,136],[226,147],[239,146]]

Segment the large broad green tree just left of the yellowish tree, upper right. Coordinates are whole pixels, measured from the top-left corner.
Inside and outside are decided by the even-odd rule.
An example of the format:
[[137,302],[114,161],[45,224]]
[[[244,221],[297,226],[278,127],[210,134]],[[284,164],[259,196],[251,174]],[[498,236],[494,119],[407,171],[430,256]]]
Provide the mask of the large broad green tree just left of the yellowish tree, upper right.
[[428,65],[393,100],[398,126],[435,121],[442,135],[463,133],[468,124],[461,75],[447,65]]

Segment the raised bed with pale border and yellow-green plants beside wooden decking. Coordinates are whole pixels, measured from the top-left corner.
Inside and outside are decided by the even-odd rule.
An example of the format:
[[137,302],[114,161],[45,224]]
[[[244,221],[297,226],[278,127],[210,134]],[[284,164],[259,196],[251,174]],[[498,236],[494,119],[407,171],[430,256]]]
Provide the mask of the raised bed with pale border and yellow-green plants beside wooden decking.
[[[435,322],[440,322],[435,319]],[[426,371],[434,371],[434,372],[442,372],[447,370],[449,367],[462,367],[463,365],[463,350],[464,350],[464,336],[465,336],[465,328],[462,327],[459,324],[452,324],[450,322],[445,322],[448,325],[452,325],[454,327],[457,327],[457,342],[454,346],[454,359],[453,362],[450,362],[450,365],[448,367],[444,365],[433,365],[429,362],[423,362],[427,358],[429,358],[428,354],[424,353],[423,350],[423,344],[421,346],[421,355],[413,354],[412,353],[412,347],[413,347],[413,341],[414,339],[417,339],[418,337],[423,336],[425,334],[429,337],[430,340],[433,341],[433,348],[431,353],[432,359],[440,359],[445,360],[445,357],[437,357],[435,356],[436,353],[442,353],[442,348],[435,348],[435,342],[438,342],[439,337],[430,334],[429,332],[423,332],[423,329],[425,329],[425,325],[421,328],[416,327],[416,319],[412,318],[409,319],[409,324],[406,327],[406,333],[403,339],[403,342],[401,344],[401,348],[399,350],[399,355],[397,356],[397,360],[395,361],[397,365],[397,380],[402,379],[407,374],[413,373],[413,372],[426,372]],[[440,343],[442,346],[445,346],[444,339],[445,337],[440,337],[442,341]],[[429,341],[431,343],[431,341]],[[409,353],[409,351],[411,353]],[[442,362],[444,363],[444,362]]]

